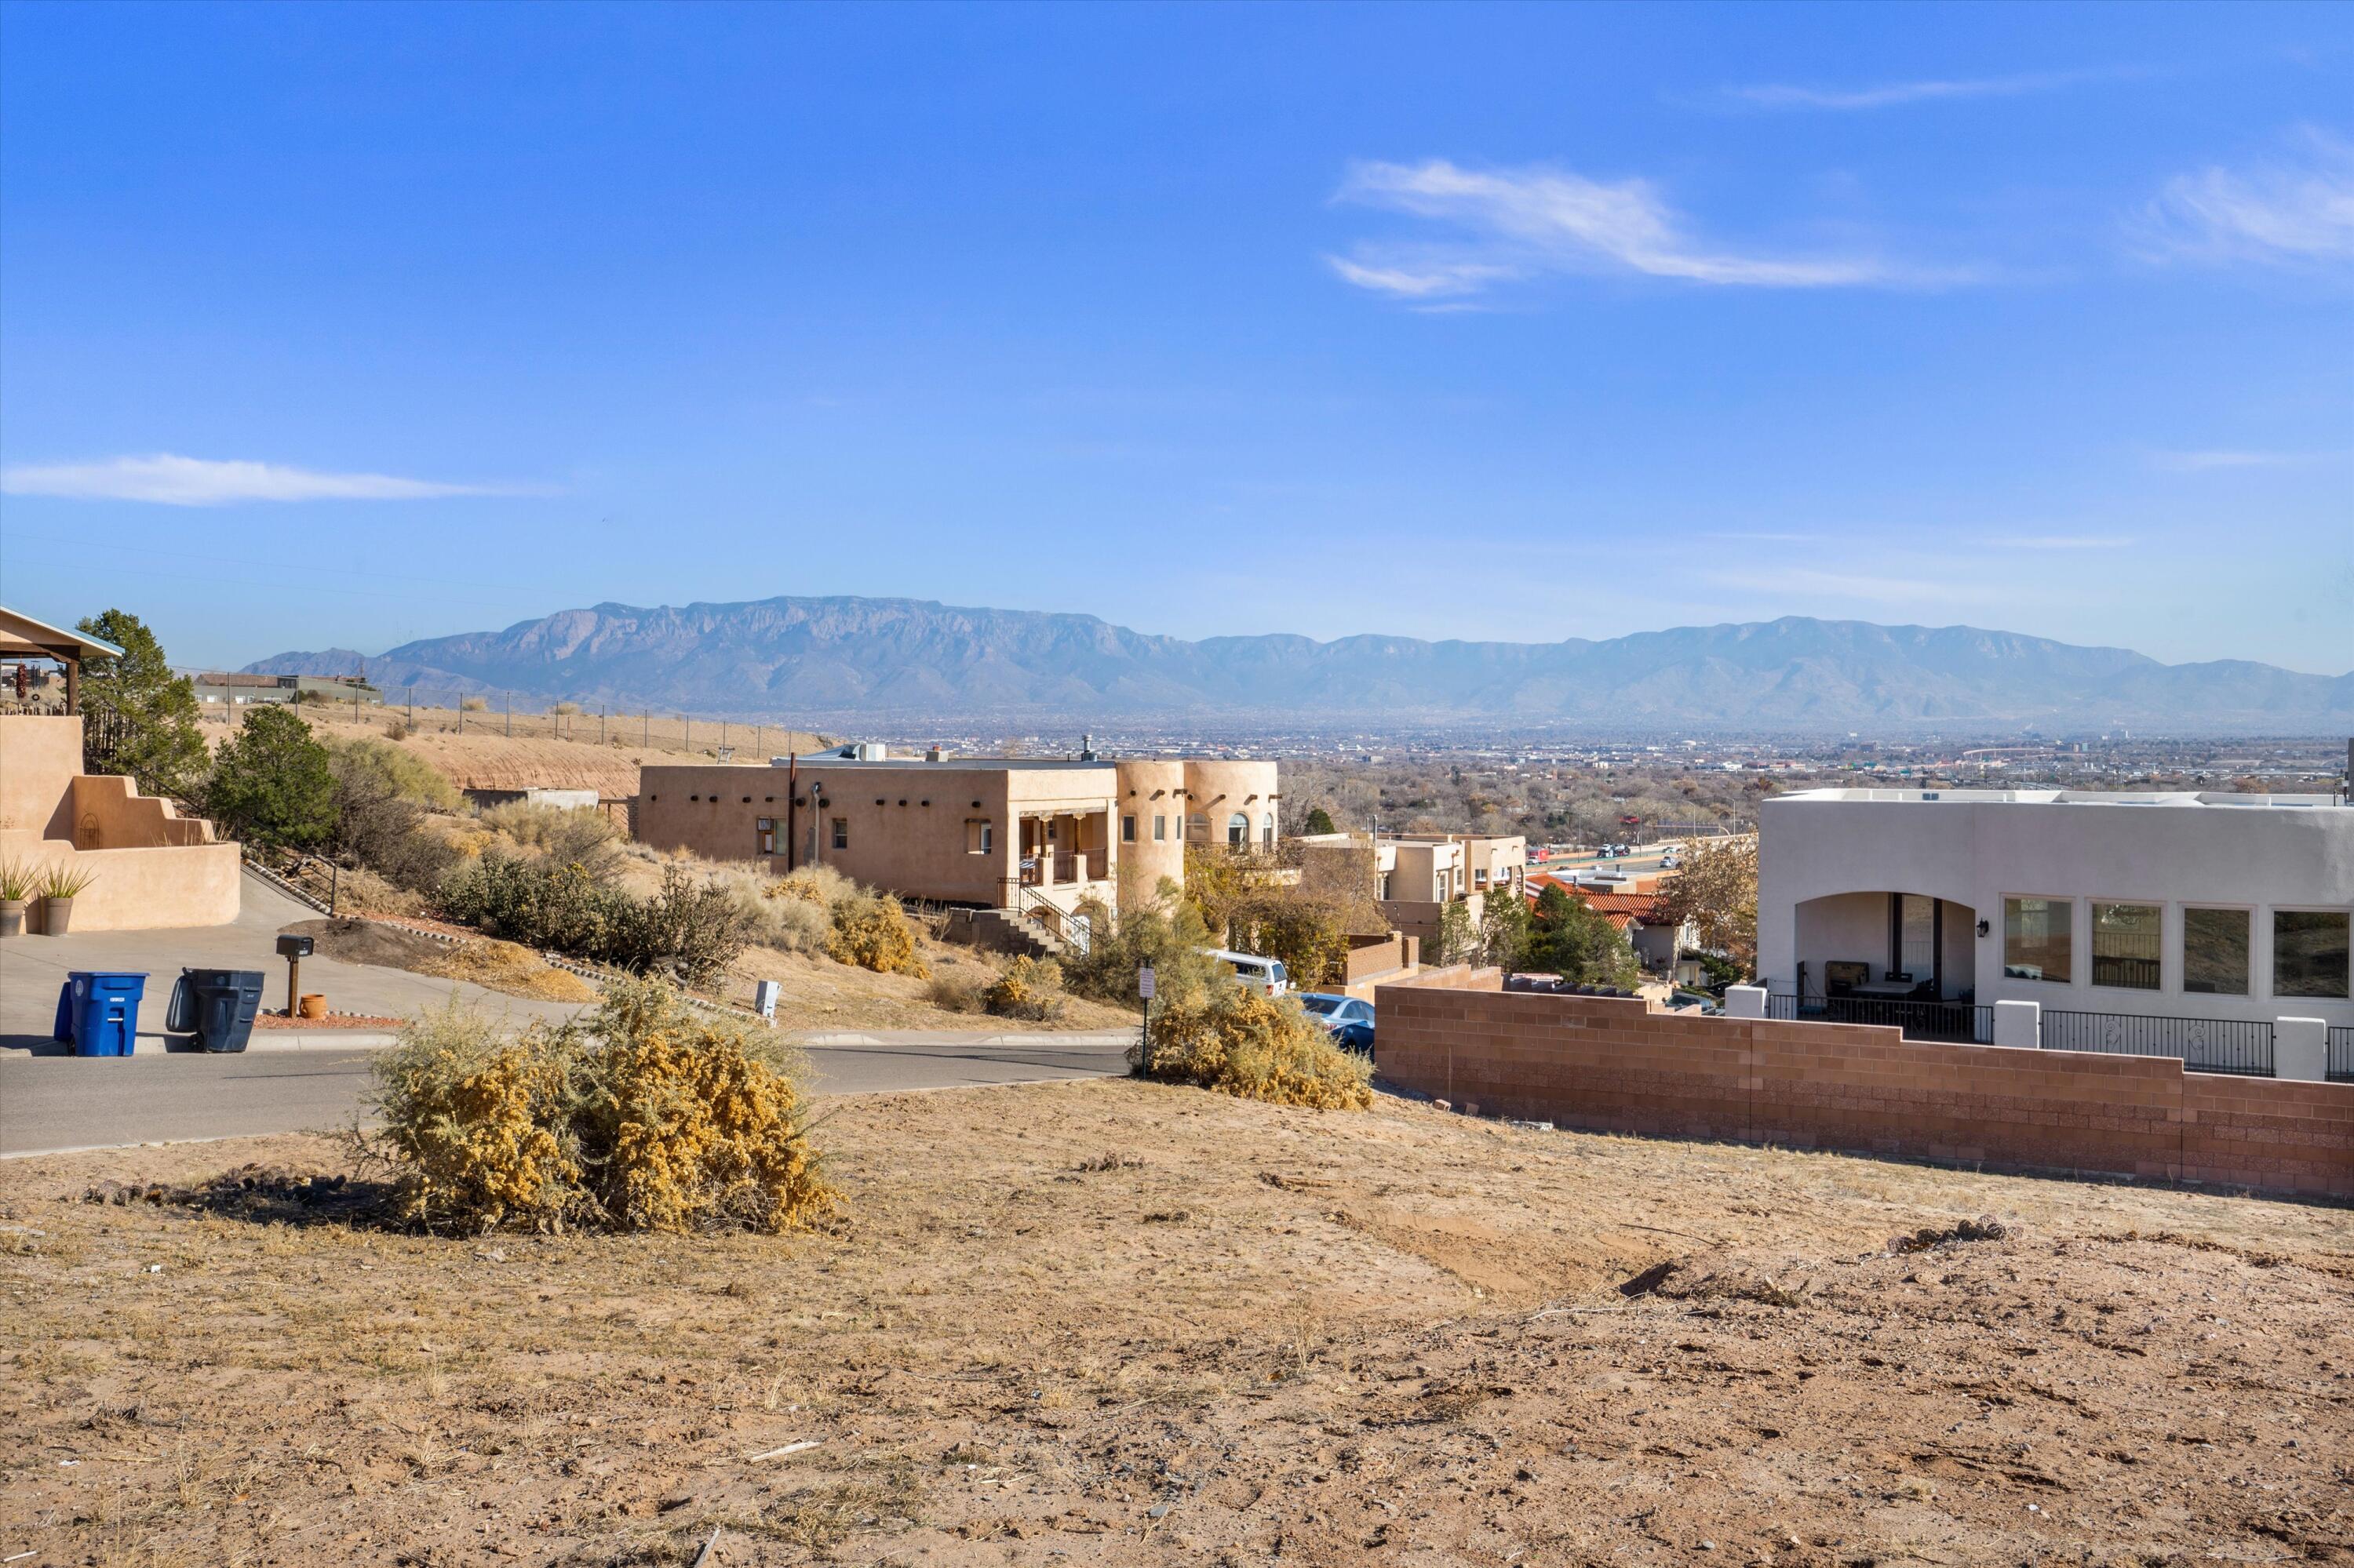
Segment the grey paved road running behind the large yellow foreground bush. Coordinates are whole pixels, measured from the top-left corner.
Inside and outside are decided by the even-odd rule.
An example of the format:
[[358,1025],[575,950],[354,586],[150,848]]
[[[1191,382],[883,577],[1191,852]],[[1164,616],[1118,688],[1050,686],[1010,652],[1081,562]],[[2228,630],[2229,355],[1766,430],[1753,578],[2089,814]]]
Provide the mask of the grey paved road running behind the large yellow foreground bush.
[[[810,1045],[822,1095],[1099,1078],[1128,1071],[1128,1034],[866,1034]],[[370,1050],[207,1057],[0,1055],[0,1156],[193,1137],[346,1128]]]

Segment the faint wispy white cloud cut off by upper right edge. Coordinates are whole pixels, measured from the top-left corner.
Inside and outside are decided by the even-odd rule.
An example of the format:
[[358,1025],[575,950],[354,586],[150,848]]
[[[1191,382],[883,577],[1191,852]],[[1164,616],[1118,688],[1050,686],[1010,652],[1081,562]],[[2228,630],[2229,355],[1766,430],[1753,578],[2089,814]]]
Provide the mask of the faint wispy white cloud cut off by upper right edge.
[[2130,228],[2152,259],[2354,261],[2354,144],[2305,129],[2288,158],[2177,174]]

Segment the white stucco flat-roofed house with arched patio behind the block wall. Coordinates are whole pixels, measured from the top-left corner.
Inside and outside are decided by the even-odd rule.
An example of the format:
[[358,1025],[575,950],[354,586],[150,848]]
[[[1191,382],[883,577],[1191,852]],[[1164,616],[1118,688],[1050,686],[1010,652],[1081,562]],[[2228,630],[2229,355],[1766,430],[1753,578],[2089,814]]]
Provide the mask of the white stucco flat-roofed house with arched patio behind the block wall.
[[1758,977],[1798,1010],[2034,1001],[2069,1048],[2354,1026],[2345,796],[1813,789],[1758,817]]

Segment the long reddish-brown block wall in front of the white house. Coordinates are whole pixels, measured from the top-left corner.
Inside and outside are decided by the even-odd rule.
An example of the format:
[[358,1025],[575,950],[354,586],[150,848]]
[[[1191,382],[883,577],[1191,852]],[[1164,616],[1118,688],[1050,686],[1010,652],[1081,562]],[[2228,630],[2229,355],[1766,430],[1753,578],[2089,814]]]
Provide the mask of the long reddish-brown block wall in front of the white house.
[[2354,1085],[2170,1057],[1930,1045],[1897,1029],[1507,994],[1495,970],[1375,991],[1382,1076],[1481,1116],[2010,1170],[2354,1198]]

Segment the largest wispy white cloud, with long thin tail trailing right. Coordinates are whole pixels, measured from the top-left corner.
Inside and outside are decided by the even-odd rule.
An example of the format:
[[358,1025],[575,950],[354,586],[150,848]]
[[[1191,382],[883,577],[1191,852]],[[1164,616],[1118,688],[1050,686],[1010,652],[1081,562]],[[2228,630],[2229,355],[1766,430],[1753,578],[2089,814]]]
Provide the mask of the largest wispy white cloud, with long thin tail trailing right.
[[1410,301],[1478,294],[1495,283],[1561,271],[1631,271],[1723,287],[1926,287],[1966,273],[1900,266],[1871,254],[1777,257],[1702,245],[1643,179],[1598,181],[1568,170],[1464,170],[1361,162],[1335,200],[1450,224],[1459,238],[1361,245],[1328,257],[1346,283]]

